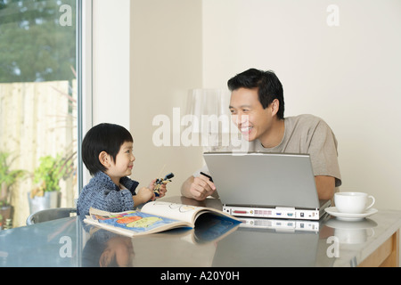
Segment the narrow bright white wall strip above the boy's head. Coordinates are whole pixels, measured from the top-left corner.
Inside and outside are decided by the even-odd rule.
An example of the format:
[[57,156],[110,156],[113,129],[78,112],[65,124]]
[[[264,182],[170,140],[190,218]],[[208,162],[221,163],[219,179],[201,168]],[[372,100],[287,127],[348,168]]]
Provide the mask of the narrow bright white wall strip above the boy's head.
[[93,124],[129,128],[130,0],[93,1]]

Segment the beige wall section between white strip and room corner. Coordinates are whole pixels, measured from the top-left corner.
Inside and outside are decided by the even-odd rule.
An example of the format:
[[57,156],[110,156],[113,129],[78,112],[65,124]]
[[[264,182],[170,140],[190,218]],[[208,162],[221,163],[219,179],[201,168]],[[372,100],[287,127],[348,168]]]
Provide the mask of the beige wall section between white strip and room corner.
[[131,1],[133,177],[142,186],[173,172],[168,195],[181,195],[181,184],[201,167],[200,148],[152,141],[160,127],[153,118],[167,115],[173,126],[173,108],[184,116],[188,91],[201,87],[201,77],[201,0]]

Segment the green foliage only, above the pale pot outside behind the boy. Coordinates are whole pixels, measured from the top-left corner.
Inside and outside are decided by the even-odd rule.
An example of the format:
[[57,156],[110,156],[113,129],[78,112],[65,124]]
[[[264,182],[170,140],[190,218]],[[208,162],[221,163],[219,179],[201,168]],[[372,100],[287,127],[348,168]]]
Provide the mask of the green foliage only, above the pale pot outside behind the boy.
[[40,164],[34,172],[35,188],[31,191],[31,197],[43,196],[46,191],[60,191],[61,179],[66,179],[74,171],[74,155],[63,158],[57,155],[55,158],[48,155],[39,159]]

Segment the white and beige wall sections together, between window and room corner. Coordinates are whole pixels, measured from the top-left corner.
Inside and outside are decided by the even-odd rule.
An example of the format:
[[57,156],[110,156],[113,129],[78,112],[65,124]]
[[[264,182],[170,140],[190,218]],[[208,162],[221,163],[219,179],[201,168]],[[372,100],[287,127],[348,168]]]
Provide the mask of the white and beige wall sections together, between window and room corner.
[[201,0],[93,1],[93,125],[130,130],[132,178],[140,186],[173,172],[168,195],[180,195],[181,184],[201,167],[201,148],[152,142],[159,127],[152,119],[184,111],[189,89],[201,85]]

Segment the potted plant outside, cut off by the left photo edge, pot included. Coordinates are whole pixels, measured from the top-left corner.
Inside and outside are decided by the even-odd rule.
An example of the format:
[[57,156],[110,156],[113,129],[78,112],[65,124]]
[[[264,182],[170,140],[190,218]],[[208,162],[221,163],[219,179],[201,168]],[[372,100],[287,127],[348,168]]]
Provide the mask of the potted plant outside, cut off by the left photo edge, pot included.
[[22,169],[11,170],[12,161],[10,153],[0,151],[0,216],[2,216],[0,224],[4,224],[7,219],[12,219],[12,188],[20,178],[27,174]]

